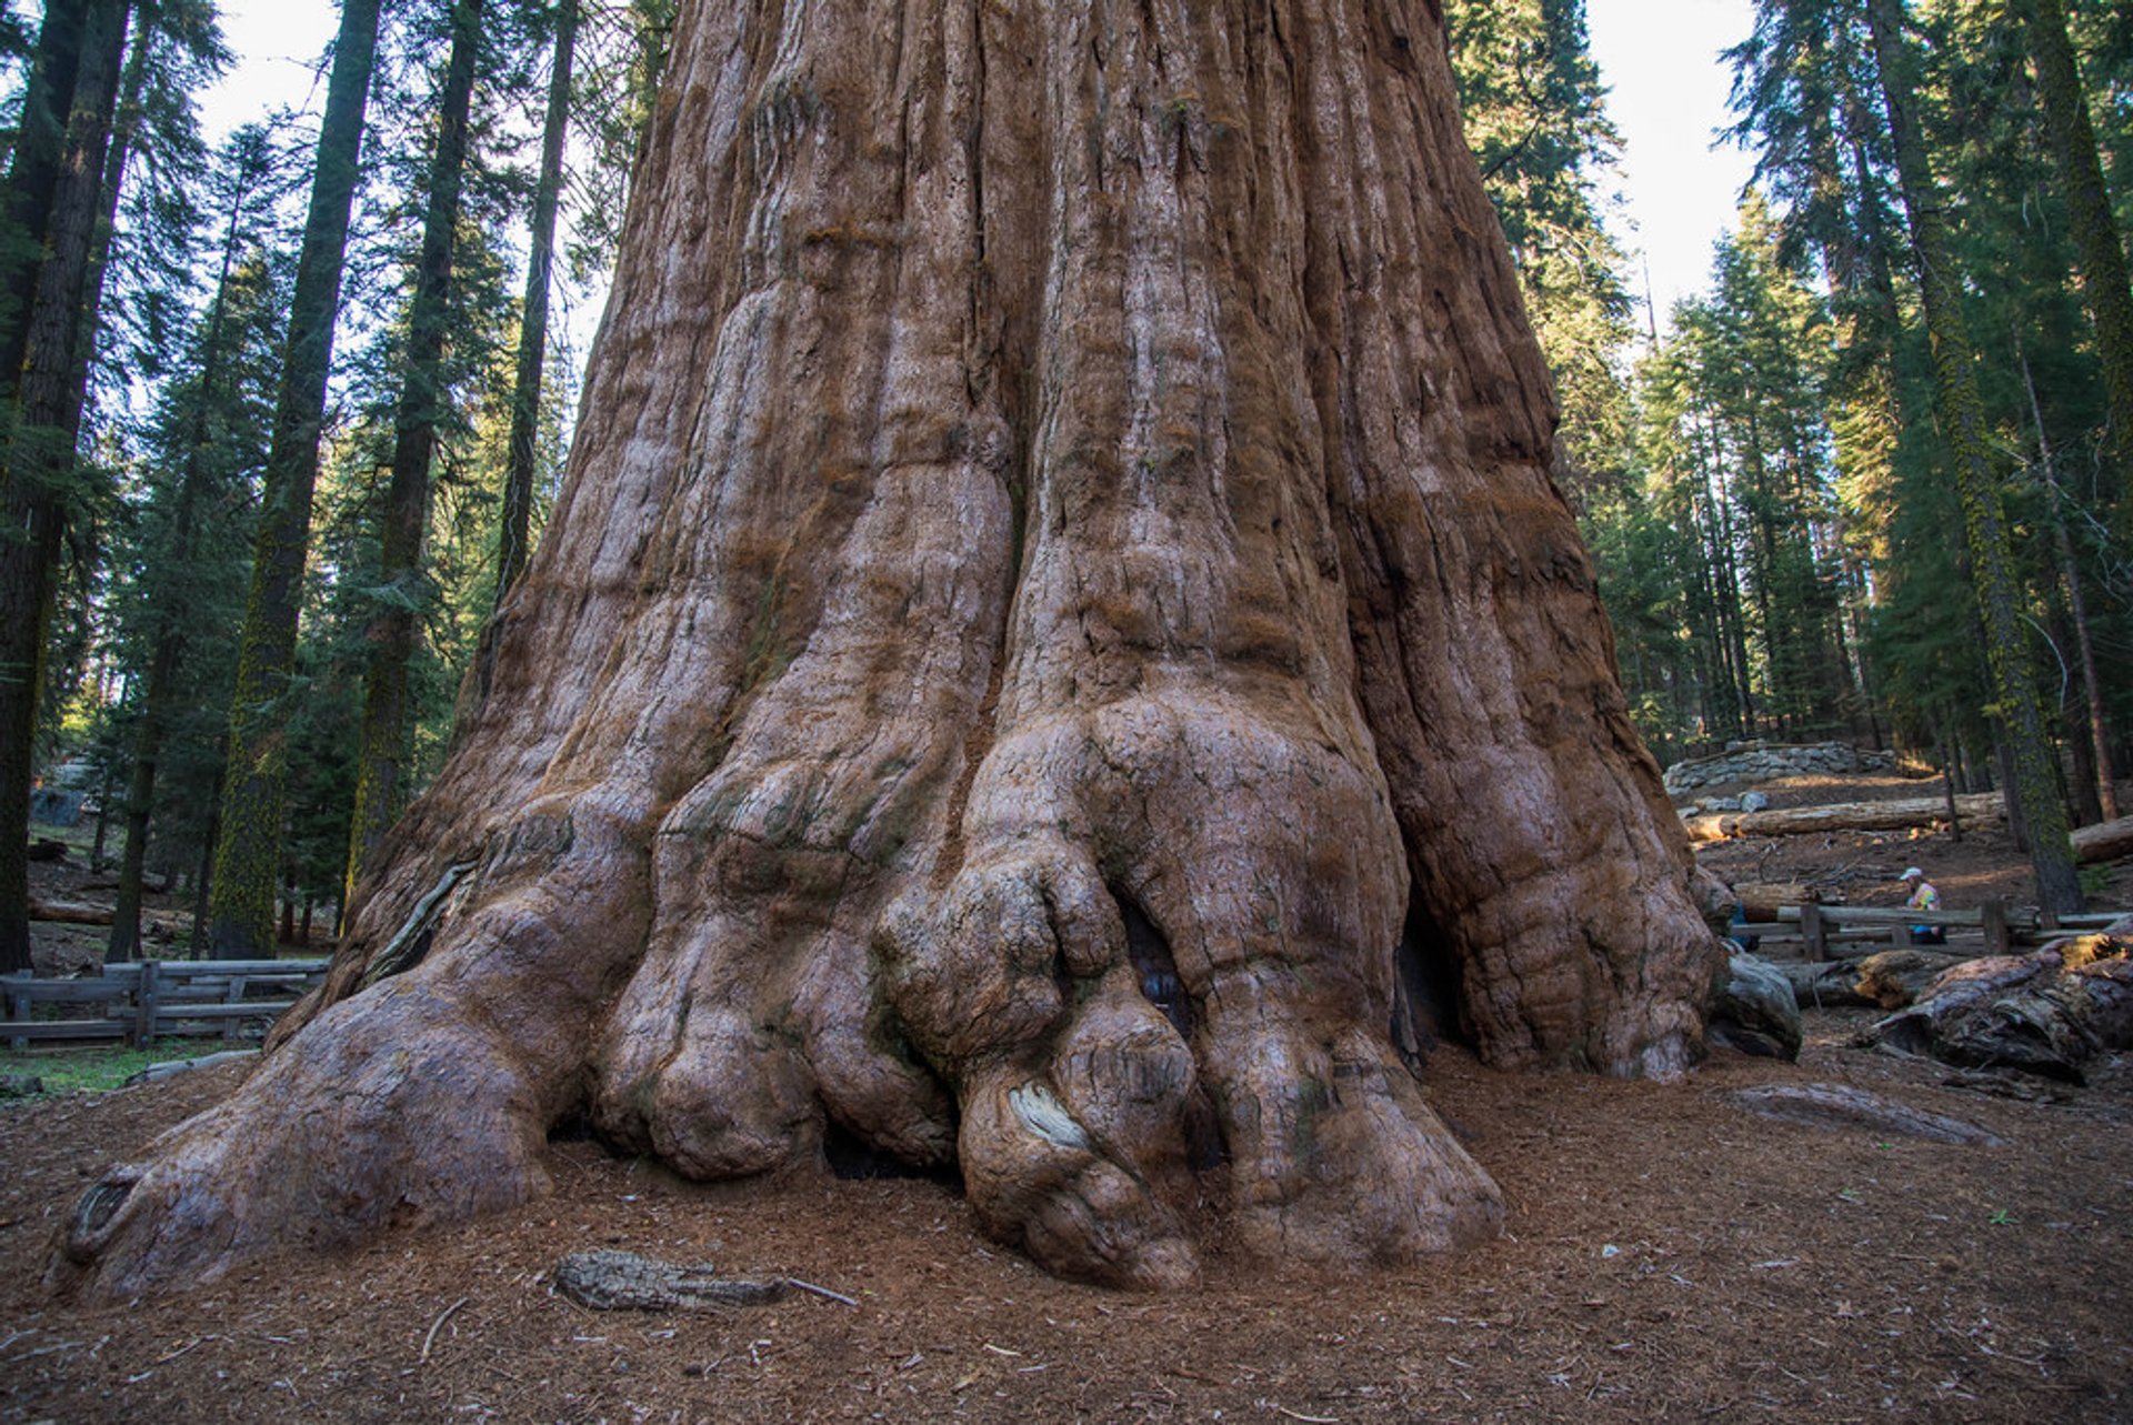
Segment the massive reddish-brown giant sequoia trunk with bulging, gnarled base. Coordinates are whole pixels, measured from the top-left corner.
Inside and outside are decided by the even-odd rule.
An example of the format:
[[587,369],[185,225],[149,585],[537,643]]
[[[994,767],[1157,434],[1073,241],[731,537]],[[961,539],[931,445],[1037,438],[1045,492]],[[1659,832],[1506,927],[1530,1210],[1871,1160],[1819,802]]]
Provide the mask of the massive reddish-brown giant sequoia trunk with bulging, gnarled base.
[[1440,15],[685,6],[548,535],[294,1043],[94,1186],[177,1284],[544,1184],[958,1165],[1052,1269],[1493,1231],[1391,1045],[1672,1073],[1715,941]]

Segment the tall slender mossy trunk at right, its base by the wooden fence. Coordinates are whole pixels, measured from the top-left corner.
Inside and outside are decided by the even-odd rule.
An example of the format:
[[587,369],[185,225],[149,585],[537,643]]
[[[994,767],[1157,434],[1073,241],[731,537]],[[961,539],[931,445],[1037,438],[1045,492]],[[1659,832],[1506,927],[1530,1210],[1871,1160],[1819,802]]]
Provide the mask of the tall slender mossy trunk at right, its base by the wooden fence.
[[1935,412],[1956,467],[1986,659],[1992,666],[1992,691],[2009,753],[2011,796],[2028,834],[2037,900],[2048,911],[2071,913],[2084,907],[2082,881],[2073,868],[2067,808],[2058,800],[2052,747],[2022,629],[2022,591],[2007,540],[2007,516],[2001,510],[1999,469],[1992,463],[1984,401],[1977,395],[1975,356],[1962,320],[1962,282],[1947,250],[1939,183],[1928,166],[1926,139],[1913,111],[1918,66],[1903,34],[1901,0],[1866,0],[1866,19],[1888,100],[1903,205],[1911,220],[1911,254],[1918,260],[1926,339],[1932,343]]

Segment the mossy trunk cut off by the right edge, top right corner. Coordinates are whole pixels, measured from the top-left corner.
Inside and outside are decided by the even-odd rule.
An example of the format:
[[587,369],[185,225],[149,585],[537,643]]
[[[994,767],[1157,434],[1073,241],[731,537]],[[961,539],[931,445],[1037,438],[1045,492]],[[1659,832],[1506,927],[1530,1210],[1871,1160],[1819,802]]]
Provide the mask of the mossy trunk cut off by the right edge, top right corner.
[[2028,51],[2037,60],[2058,181],[2067,194],[2073,241],[2082,254],[2082,301],[2097,324],[2103,356],[2103,397],[2110,410],[2107,450],[2118,476],[2118,521],[2133,535],[2133,282],[2127,279],[2124,235],[2112,213],[2112,194],[2097,158],[2097,130],[2088,122],[2082,68],[2067,38],[2060,0],[2020,0],[2028,19]]

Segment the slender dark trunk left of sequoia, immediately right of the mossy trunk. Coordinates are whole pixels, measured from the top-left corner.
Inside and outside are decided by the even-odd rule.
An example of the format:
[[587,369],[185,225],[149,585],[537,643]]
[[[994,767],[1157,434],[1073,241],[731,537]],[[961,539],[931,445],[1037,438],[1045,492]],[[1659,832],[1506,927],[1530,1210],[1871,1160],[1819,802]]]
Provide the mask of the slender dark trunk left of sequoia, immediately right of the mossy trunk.
[[429,164],[422,252],[416,258],[414,301],[407,307],[401,399],[392,422],[392,478],[386,486],[378,550],[378,578],[386,599],[367,631],[356,806],[348,832],[348,892],[354,892],[378,840],[407,798],[407,685],[420,617],[429,608],[429,570],[422,567],[431,506],[429,467],[437,457],[437,427],[448,416],[444,352],[452,322],[459,194],[467,171],[467,113],[474,102],[480,49],[482,0],[456,0],[452,51],[437,94],[437,149]]

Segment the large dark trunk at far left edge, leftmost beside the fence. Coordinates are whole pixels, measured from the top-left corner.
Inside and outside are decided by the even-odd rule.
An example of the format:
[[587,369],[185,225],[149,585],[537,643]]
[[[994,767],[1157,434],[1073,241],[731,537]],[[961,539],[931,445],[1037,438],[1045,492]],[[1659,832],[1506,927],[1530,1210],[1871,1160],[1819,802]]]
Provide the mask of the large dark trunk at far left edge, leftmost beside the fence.
[[92,4],[81,32],[66,137],[45,226],[45,258],[23,320],[4,412],[0,467],[0,971],[30,968],[30,779],[45,638],[75,480],[83,388],[83,305],[105,145],[126,45],[126,0]]

